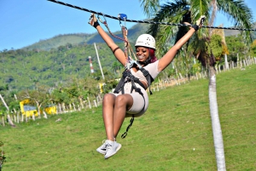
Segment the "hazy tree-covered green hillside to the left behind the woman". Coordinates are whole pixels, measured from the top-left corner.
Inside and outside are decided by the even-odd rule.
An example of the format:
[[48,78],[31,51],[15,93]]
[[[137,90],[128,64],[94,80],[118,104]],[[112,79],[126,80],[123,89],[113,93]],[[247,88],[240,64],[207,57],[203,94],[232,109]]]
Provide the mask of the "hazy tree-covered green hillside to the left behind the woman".
[[[137,24],[128,30],[131,46],[137,37],[146,32],[147,24]],[[255,32],[253,32],[255,34]],[[113,32],[121,37],[121,32]],[[114,38],[119,47],[124,48],[121,40]],[[122,66],[116,62],[111,50],[98,34],[67,34],[42,40],[31,46],[0,53],[0,89],[9,91],[33,89],[36,84],[55,87],[76,78],[96,77],[100,79],[96,48],[104,75],[109,79],[120,77]],[[94,75],[90,75],[91,57]]]

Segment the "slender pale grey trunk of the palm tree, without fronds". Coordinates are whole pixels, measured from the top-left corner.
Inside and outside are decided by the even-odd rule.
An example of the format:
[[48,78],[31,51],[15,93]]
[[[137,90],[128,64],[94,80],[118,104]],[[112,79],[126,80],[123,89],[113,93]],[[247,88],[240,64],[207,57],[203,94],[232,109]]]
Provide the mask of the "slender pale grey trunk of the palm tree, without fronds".
[[224,143],[222,137],[221,126],[218,117],[218,103],[216,91],[216,73],[213,66],[209,68],[209,104],[212,117],[212,134],[215,148],[215,157],[218,171],[226,170],[224,157]]

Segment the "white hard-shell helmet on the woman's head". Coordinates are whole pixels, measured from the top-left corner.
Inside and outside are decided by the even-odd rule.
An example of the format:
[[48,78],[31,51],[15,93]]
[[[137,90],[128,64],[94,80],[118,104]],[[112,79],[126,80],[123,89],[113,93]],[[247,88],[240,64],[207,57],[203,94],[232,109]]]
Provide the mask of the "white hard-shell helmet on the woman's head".
[[141,36],[137,37],[137,41],[135,43],[135,46],[143,46],[143,47],[148,47],[148,48],[154,48],[155,49],[154,37],[152,37],[149,34],[142,34]]

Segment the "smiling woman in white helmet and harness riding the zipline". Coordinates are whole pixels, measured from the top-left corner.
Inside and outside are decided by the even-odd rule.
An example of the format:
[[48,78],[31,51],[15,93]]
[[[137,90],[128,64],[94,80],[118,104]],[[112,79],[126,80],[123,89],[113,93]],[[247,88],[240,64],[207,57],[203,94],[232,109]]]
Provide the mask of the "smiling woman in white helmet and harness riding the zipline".
[[[115,88],[113,93],[105,94],[102,101],[102,117],[107,140],[96,151],[102,153],[105,159],[112,157],[121,148],[116,139],[125,117],[132,117],[132,124],[133,117],[143,116],[148,109],[146,89],[149,88],[154,78],[160,74],[160,71],[163,71],[172,62],[183,44],[192,37],[195,31],[201,28],[203,20],[205,20],[205,16],[201,16],[195,25],[190,26],[189,31],[160,60],[157,60],[154,55],[154,37],[149,34],[137,37],[135,44],[137,60],[131,60],[127,50],[125,52],[121,50],[102,29],[95,14],[91,14],[89,24],[96,28],[99,35],[112,50],[116,59],[125,66],[123,77],[117,88]],[[107,25],[107,23],[102,23],[105,26]],[[126,38],[125,42],[128,43]],[[125,44],[125,49],[128,46],[128,44]],[[131,124],[126,129],[125,134],[122,135],[122,138],[127,134]]]

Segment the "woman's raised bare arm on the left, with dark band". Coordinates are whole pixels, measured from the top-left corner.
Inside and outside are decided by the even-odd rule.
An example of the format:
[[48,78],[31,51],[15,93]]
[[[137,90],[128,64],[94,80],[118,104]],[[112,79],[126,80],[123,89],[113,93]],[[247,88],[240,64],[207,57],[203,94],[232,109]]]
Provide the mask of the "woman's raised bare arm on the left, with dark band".
[[104,31],[102,29],[102,26],[99,25],[99,23],[97,22],[96,17],[95,17],[94,14],[91,14],[91,18],[90,18],[89,24],[96,28],[96,30],[98,31],[100,36],[103,38],[105,43],[107,43],[108,47],[112,50],[112,52],[113,52],[114,56],[116,57],[116,59],[119,60],[119,62],[123,66],[125,66],[125,62],[126,62],[125,53],[123,52],[123,50],[121,50],[121,48],[119,48],[119,46],[116,43],[113,42],[113,39],[108,36],[106,31]]

